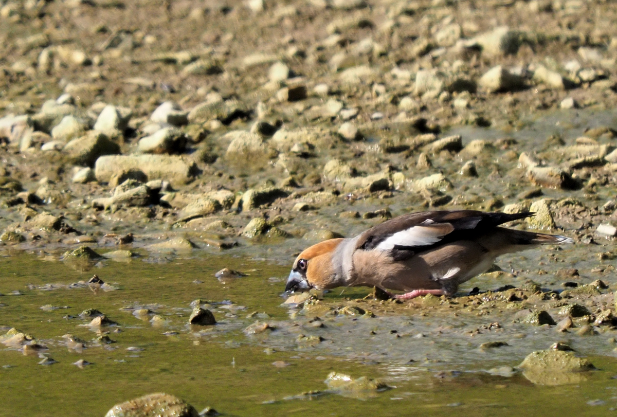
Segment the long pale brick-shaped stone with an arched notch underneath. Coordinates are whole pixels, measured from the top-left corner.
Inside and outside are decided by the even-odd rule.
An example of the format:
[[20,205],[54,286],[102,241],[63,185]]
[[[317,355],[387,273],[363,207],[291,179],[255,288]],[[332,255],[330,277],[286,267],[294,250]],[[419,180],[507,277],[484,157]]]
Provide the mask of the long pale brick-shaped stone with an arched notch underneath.
[[96,160],[96,180],[107,183],[113,176],[128,171],[141,171],[148,180],[168,180],[173,184],[185,184],[196,173],[194,162],[171,155],[112,155]]

